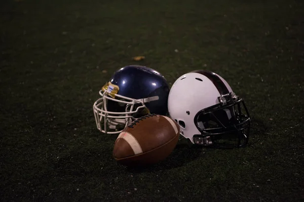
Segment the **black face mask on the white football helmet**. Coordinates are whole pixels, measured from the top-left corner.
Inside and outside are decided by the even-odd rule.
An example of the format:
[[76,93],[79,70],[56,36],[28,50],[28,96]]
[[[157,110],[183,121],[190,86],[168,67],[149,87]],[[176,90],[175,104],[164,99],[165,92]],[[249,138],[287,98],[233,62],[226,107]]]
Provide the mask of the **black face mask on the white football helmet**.
[[[248,142],[250,118],[242,99],[230,100],[226,105],[217,104],[204,109],[195,116],[195,125],[206,145],[218,147],[240,147]],[[208,138],[208,141],[204,139]]]

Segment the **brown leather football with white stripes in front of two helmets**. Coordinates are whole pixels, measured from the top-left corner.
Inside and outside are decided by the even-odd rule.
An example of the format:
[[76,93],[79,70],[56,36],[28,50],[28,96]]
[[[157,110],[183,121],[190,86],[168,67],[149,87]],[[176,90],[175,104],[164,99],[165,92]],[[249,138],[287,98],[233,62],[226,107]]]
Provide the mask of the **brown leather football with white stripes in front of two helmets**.
[[113,157],[125,166],[156,164],[177,144],[179,125],[169,117],[149,114],[133,121],[117,137]]

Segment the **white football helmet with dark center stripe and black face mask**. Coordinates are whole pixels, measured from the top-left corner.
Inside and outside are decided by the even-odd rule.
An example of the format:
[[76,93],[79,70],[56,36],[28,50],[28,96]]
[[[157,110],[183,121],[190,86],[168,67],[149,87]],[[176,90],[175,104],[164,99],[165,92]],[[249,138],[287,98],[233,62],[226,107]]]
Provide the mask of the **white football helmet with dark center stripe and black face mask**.
[[244,100],[213,72],[196,70],[179,77],[169,92],[168,111],[180,134],[194,144],[248,143],[250,117]]

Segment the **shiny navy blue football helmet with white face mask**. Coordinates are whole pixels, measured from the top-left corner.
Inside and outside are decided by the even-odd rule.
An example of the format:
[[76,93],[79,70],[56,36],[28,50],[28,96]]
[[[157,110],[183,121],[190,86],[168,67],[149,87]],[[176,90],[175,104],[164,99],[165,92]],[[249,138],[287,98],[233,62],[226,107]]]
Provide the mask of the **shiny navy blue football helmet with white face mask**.
[[93,105],[96,126],[106,134],[120,133],[146,114],[166,115],[169,86],[158,71],[130,65],[116,71]]

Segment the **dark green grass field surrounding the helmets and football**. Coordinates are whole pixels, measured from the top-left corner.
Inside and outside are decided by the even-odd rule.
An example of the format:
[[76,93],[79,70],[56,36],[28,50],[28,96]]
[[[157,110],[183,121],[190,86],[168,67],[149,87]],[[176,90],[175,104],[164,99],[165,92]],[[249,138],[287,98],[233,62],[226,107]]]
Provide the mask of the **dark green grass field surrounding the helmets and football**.
[[[299,0],[1,1],[0,201],[304,201],[303,11]],[[170,85],[221,75],[250,110],[249,145],[181,137],[164,162],[118,165],[92,105],[130,64]]]

